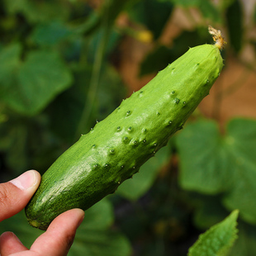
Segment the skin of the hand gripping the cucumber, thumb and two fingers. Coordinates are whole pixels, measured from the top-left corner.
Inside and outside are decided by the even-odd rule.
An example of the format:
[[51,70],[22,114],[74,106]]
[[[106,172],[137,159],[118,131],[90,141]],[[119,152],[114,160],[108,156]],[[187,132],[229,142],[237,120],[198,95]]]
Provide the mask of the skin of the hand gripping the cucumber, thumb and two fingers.
[[[40,173],[35,170],[22,173],[10,182],[0,184],[0,221],[21,211],[40,184]],[[67,255],[78,226],[82,223],[84,211],[65,211],[52,221],[43,235],[40,235],[31,249],[27,249],[12,232],[0,236],[1,256],[64,256]]]

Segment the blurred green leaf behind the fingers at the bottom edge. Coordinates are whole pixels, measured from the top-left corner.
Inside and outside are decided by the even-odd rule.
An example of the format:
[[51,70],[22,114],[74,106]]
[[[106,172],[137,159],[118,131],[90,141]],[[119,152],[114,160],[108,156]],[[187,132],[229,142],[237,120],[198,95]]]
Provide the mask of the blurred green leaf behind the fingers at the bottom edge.
[[[77,230],[69,255],[130,255],[128,240],[121,233],[111,230],[112,222],[113,210],[111,203],[107,199],[88,209],[85,212],[83,223]],[[43,233],[43,231],[28,225],[23,211],[10,219],[2,221],[0,234],[7,230],[14,232],[28,248]]]

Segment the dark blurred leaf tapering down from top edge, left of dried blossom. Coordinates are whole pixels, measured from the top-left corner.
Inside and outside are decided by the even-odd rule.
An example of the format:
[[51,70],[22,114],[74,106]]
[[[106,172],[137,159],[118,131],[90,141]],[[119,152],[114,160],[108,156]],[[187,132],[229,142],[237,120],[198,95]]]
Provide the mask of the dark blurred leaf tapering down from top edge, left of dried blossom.
[[171,2],[159,2],[159,0],[140,1],[128,9],[131,19],[145,25],[153,32],[155,39],[161,35],[172,11]]

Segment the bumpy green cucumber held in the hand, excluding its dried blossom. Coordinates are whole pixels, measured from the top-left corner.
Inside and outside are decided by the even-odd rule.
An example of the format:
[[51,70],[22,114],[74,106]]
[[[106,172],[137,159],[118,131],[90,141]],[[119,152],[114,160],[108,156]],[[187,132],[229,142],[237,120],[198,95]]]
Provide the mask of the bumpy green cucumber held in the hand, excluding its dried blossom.
[[222,67],[216,45],[193,47],[121,102],[45,172],[26,206],[28,222],[46,230],[60,213],[115,192],[183,127]]

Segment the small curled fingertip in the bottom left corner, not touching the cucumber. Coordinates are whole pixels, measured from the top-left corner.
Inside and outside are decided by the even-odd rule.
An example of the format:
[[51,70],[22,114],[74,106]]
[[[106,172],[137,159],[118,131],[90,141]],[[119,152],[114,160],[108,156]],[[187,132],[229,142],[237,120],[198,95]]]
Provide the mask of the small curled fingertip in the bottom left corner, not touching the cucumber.
[[10,255],[26,250],[27,248],[12,232],[5,232],[0,236],[0,255]]

